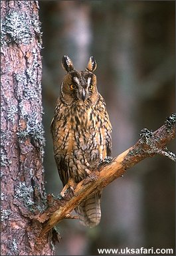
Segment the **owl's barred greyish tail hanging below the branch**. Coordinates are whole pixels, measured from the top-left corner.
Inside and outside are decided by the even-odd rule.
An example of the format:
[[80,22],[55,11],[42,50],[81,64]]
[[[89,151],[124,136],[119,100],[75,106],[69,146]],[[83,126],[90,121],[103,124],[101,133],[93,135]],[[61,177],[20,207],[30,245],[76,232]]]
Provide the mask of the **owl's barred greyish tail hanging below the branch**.
[[86,200],[82,201],[75,211],[80,217],[80,223],[87,227],[95,227],[100,223],[101,209],[100,209],[101,192],[90,195]]

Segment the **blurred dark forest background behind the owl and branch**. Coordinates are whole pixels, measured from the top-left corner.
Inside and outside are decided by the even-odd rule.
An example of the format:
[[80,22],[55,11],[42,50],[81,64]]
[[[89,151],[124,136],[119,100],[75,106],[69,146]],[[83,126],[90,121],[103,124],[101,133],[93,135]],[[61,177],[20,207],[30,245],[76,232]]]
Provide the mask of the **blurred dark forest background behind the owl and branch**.
[[[156,130],[175,110],[175,1],[39,1],[43,31],[46,192],[62,184],[50,122],[68,55],[77,70],[94,56],[98,89],[112,122],[113,156],[132,146],[142,128]],[[173,142],[168,149],[174,151]],[[58,225],[56,255],[98,255],[97,248],[175,248],[174,163],[143,160],[104,189],[102,220]]]

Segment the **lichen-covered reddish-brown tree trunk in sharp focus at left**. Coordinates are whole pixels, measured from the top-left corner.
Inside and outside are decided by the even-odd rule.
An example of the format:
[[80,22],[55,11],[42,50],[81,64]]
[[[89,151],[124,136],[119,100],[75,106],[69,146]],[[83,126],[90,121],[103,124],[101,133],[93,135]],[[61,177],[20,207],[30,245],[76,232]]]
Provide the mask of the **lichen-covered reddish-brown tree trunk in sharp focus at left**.
[[53,255],[46,208],[38,1],[1,1],[1,255]]

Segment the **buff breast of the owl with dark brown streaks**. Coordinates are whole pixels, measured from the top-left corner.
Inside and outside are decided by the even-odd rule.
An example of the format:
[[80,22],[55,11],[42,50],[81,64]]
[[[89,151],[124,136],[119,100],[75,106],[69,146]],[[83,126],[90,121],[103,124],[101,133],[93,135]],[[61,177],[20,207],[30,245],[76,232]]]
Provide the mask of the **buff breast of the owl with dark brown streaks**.
[[[98,103],[102,100],[101,96],[99,98]],[[73,174],[78,176],[79,173],[79,180],[86,176],[85,169],[90,168],[94,160],[106,158],[106,130],[111,126],[103,101],[98,106],[77,104],[70,107],[60,101],[52,127],[53,138],[56,138],[54,152],[64,156]]]

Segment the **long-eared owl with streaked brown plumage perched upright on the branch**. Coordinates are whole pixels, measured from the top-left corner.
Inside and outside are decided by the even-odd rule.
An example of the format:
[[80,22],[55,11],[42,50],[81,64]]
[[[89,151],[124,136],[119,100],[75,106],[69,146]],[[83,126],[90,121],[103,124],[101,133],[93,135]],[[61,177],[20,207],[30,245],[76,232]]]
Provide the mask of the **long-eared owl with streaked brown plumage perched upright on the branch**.
[[[90,57],[86,69],[77,71],[71,59],[64,55],[62,67],[66,74],[61,82],[51,133],[54,158],[63,186],[73,179],[80,182],[100,161],[112,154],[111,132],[104,98],[97,89],[96,61]],[[100,223],[102,191],[87,197],[75,211],[87,227]]]

